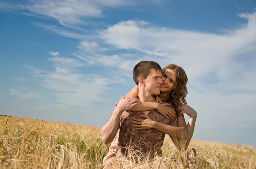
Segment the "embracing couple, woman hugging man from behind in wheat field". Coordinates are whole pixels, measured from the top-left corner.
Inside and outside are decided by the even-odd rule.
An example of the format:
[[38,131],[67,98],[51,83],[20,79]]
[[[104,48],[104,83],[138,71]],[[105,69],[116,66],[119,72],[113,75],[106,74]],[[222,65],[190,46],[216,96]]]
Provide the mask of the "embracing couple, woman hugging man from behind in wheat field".
[[[187,76],[177,65],[160,67],[141,61],[133,71],[136,86],[119,99],[108,122],[102,127],[102,141],[112,142],[103,165],[111,168],[116,158],[132,155],[136,160],[162,155],[168,134],[180,151],[192,138],[197,113],[186,104]],[[183,113],[189,115],[186,121]]]

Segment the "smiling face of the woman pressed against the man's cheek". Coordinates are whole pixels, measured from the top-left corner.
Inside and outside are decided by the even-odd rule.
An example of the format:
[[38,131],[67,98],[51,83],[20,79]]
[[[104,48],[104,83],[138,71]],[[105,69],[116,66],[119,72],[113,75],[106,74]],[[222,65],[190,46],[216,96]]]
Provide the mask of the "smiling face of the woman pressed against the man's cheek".
[[172,69],[167,69],[162,76],[163,85],[161,85],[161,92],[171,92],[174,89],[176,82],[176,76]]

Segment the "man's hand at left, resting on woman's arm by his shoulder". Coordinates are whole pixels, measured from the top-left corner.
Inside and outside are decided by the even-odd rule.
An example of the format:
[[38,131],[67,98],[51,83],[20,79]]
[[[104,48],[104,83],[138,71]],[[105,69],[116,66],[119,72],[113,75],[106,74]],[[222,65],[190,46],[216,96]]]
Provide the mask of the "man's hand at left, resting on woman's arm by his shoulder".
[[124,112],[127,110],[130,110],[132,107],[140,104],[140,101],[133,96],[125,98],[123,97],[122,99],[119,100],[118,104],[116,105],[116,109]]

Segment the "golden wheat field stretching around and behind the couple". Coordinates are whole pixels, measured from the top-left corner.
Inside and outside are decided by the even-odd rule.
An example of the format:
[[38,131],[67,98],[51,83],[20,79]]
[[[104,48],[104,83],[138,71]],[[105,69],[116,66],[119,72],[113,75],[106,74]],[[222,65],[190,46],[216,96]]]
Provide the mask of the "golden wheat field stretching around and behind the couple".
[[[100,128],[52,121],[0,116],[0,168],[101,169],[110,145],[102,144]],[[116,160],[124,169],[256,169],[256,149],[192,140],[179,152],[169,137],[163,157],[154,161]]]

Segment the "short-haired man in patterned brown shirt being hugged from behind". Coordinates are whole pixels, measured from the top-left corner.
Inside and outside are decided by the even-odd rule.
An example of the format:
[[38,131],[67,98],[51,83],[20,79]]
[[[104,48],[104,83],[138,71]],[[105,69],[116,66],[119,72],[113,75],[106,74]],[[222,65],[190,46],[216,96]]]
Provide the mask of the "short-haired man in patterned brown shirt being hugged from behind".
[[[163,103],[157,96],[160,94],[162,69],[160,65],[152,61],[141,61],[133,71],[133,78],[138,85],[139,101]],[[147,115],[152,120],[177,127],[177,118],[169,120],[156,110],[148,112],[130,112],[132,107],[139,101],[135,98],[122,98],[117,101],[111,117],[102,127],[102,141],[105,144],[112,142],[108,155],[104,158],[104,165],[111,166],[116,157],[125,157],[131,154],[135,159],[149,155],[154,157],[162,155],[161,147],[165,133],[156,129],[136,130],[129,123],[131,118],[142,118],[140,115]],[[118,134],[119,131],[119,134]]]

